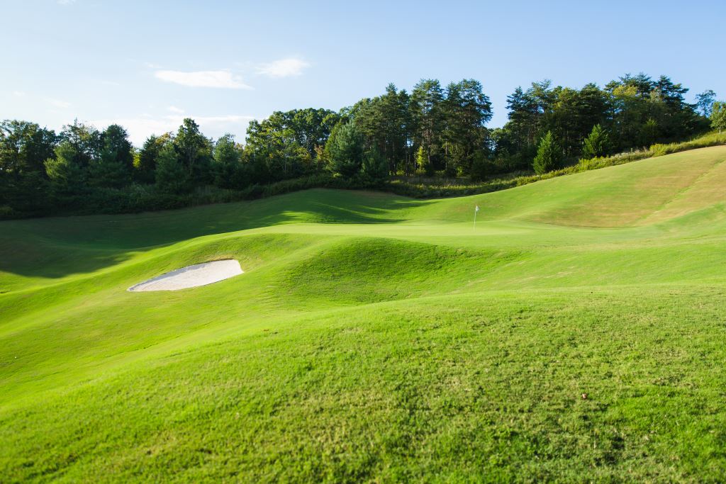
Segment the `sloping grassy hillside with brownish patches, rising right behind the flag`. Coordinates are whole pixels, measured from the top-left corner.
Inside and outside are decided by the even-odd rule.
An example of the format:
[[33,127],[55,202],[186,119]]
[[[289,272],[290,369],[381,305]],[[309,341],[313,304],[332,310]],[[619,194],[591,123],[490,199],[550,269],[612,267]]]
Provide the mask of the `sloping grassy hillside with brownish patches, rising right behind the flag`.
[[432,218],[467,221],[472,201],[484,219],[558,225],[637,226],[723,203],[726,146],[694,149],[606,170],[587,171],[502,192],[445,200]]

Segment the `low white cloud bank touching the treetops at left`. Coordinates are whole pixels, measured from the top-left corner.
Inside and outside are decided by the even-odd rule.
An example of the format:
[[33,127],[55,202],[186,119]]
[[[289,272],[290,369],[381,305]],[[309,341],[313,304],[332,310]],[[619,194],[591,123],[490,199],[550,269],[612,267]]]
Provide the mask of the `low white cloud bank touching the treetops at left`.
[[184,118],[194,119],[205,136],[219,138],[222,134],[229,132],[237,135],[237,139],[240,141],[244,139],[250,120],[254,119],[253,116],[245,115],[185,116],[174,114],[153,117],[143,114],[138,118],[91,120],[89,124],[99,129],[105,129],[110,124],[119,124],[129,132],[131,142],[140,147],[152,134],[160,135],[169,131],[176,131]]

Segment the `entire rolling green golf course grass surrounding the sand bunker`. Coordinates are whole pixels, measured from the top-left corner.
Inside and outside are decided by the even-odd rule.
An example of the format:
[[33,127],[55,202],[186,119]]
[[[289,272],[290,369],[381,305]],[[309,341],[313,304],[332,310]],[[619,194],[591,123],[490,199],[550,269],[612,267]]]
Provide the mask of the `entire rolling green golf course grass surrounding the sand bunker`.
[[722,482],[725,161],[1,222],[0,482]]

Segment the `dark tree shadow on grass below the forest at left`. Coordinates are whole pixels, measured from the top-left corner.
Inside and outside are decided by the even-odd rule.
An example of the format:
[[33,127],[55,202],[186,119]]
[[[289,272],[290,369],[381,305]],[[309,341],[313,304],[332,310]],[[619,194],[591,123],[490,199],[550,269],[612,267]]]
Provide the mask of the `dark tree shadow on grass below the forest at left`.
[[378,192],[311,189],[181,210],[4,221],[0,222],[0,271],[58,279],[195,237],[283,223],[396,223],[406,220],[409,209],[428,203]]

